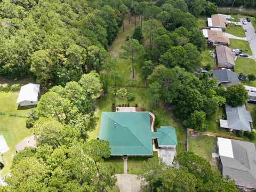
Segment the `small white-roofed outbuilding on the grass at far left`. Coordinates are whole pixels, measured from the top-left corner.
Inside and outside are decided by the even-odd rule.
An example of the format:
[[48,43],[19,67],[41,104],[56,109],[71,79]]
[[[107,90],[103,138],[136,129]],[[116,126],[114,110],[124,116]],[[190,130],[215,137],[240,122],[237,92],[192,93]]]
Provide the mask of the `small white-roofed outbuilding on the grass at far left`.
[[40,85],[29,83],[20,88],[17,103],[22,106],[37,105],[38,94],[40,93]]

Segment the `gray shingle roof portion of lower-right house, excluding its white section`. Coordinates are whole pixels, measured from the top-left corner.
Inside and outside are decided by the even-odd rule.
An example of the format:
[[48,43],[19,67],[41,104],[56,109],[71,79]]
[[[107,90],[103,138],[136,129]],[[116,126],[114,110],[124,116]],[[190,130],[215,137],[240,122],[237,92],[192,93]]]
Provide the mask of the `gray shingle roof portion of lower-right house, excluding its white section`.
[[234,158],[220,156],[222,175],[235,181],[236,185],[256,188],[256,150],[254,143],[231,139]]

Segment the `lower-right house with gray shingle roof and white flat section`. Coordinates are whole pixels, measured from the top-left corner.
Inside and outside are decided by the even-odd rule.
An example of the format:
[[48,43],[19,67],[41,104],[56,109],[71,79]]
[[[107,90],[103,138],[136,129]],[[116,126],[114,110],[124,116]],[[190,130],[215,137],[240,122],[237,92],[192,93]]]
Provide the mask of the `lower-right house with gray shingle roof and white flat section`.
[[220,171],[241,188],[256,188],[256,150],[251,142],[218,138]]

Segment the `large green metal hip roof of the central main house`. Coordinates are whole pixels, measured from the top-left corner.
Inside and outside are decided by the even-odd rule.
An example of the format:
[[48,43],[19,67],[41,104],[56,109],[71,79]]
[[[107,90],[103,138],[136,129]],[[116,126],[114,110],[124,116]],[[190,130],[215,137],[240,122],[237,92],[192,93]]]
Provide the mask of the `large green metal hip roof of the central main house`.
[[99,139],[111,155],[153,155],[149,113],[102,112]]

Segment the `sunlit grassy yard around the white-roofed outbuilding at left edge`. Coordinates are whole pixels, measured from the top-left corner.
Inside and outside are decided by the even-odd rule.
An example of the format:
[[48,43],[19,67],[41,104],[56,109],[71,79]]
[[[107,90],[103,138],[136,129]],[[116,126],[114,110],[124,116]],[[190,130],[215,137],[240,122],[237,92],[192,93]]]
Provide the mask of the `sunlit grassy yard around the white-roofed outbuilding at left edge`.
[[0,175],[6,175],[11,171],[12,159],[16,154],[15,145],[31,135],[26,128],[26,117],[10,116],[10,113],[27,115],[30,111],[30,109],[18,110],[18,104],[16,103],[20,86],[28,82],[34,81],[32,79],[25,79],[23,81],[13,82],[0,78],[0,111],[5,112],[5,115],[0,116],[0,134],[4,135],[7,145],[10,148],[9,151],[2,155],[5,166],[0,171]]

